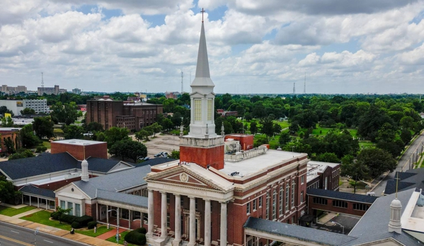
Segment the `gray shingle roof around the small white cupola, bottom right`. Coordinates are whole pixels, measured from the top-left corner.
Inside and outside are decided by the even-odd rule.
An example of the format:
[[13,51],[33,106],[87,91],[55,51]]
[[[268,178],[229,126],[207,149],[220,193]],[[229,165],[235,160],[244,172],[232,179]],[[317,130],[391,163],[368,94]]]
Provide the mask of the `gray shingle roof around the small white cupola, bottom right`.
[[[402,203],[402,213],[405,211],[406,204],[415,189],[408,189],[398,193],[398,199]],[[349,245],[360,245],[365,242],[373,242],[376,240],[383,240],[386,238],[394,238],[403,245],[415,246],[422,245],[416,239],[407,233],[389,233],[389,220],[390,220],[390,203],[395,198],[395,195],[381,196],[372,206],[369,207],[367,212],[362,216],[359,222],[355,225],[349,235],[357,237],[356,240],[349,242]]]

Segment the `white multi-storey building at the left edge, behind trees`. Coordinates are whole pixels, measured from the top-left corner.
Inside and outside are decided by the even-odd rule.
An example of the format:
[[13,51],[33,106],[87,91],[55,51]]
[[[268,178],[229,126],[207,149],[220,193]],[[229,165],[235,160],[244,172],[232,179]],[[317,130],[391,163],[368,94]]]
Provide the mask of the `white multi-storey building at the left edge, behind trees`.
[[47,99],[0,100],[0,106],[6,106],[15,116],[21,116],[24,108],[32,108],[35,113],[49,113]]

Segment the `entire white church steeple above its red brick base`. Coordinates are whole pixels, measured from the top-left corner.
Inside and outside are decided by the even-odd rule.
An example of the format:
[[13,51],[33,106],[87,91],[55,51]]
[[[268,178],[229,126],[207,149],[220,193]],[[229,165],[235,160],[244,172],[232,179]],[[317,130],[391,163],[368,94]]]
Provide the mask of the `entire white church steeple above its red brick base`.
[[197,53],[196,77],[190,86],[191,121],[188,136],[192,138],[216,138],[214,123],[215,85],[210,79],[203,21],[200,30],[199,52]]

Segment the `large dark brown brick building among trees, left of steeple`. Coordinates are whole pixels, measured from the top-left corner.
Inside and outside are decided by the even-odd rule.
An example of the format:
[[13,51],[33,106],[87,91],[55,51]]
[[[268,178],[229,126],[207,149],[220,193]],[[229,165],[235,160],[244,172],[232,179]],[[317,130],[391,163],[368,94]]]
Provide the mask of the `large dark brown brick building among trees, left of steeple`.
[[156,116],[163,113],[161,104],[147,104],[135,101],[113,101],[108,96],[88,100],[86,123],[97,122],[105,130],[118,126],[130,130],[140,130],[156,122]]

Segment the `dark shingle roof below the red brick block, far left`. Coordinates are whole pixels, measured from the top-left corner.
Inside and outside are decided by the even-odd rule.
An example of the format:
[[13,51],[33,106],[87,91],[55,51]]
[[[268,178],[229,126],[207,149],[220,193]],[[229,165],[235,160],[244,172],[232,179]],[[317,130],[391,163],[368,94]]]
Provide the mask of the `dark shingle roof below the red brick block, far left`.
[[[107,173],[120,161],[90,157],[87,162],[88,171]],[[69,169],[81,169],[81,162],[67,152],[0,162],[0,171],[13,180]]]

